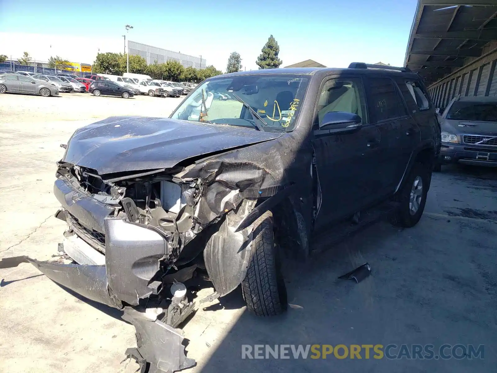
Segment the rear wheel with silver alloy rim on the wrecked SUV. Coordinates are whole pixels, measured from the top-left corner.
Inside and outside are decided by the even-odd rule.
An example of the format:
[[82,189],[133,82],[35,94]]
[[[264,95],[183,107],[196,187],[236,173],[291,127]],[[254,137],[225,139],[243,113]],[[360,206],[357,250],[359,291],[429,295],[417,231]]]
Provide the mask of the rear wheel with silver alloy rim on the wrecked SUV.
[[417,224],[424,211],[426,195],[431,181],[431,168],[415,163],[409,177],[396,195],[399,203],[394,225],[411,228]]

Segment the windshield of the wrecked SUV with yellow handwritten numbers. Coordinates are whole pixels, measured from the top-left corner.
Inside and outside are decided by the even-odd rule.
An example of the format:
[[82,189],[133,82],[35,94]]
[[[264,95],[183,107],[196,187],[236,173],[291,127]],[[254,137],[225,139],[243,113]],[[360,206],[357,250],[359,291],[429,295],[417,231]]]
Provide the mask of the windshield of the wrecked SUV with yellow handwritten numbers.
[[[171,114],[173,119],[291,131],[309,83],[306,75],[241,75],[204,81]],[[236,97],[245,101],[263,123]],[[202,115],[200,115],[202,113]]]

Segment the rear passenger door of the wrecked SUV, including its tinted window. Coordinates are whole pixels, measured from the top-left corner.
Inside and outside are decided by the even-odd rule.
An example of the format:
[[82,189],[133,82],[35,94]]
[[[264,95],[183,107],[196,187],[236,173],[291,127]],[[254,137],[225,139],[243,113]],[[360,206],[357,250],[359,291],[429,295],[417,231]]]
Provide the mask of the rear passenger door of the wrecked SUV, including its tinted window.
[[391,195],[401,181],[413,151],[412,139],[419,138],[419,130],[390,77],[367,77],[365,85],[371,122],[381,134],[379,162],[383,179],[381,197],[384,198]]

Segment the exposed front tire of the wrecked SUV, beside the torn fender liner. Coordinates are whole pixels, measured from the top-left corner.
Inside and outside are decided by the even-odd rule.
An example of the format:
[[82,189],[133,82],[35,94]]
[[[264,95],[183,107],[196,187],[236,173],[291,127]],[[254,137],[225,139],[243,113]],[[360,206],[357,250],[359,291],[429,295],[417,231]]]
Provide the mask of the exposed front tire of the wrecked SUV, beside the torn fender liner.
[[242,292],[250,312],[257,316],[275,316],[283,313],[288,303],[274,245],[271,211],[266,211],[253,224],[251,258],[242,280]]

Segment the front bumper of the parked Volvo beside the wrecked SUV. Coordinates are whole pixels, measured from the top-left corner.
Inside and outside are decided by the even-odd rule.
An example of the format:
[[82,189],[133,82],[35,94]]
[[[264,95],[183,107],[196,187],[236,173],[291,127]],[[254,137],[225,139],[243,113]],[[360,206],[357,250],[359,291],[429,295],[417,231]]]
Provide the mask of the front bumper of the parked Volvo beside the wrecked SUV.
[[461,163],[497,167],[497,148],[442,142],[438,159],[442,165]]

